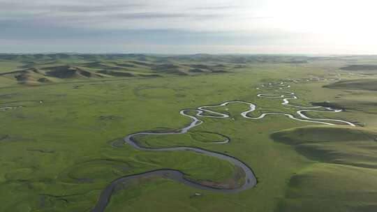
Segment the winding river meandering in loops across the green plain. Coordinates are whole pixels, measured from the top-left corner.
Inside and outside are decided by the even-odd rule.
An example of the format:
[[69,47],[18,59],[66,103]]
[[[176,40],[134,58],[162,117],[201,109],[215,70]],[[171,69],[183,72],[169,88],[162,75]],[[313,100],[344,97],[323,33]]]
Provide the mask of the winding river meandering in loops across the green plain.
[[[127,135],[124,138],[124,142],[128,145],[133,146],[133,148],[141,150],[141,151],[193,151],[195,153],[201,153],[205,154],[207,156],[212,156],[215,158],[219,158],[221,160],[227,160],[228,162],[232,163],[232,165],[235,165],[242,169],[244,172],[244,183],[239,186],[238,188],[216,188],[209,185],[202,185],[198,182],[191,181],[189,179],[185,178],[185,174],[180,172],[179,170],[175,169],[158,169],[151,172],[144,172],[141,174],[133,174],[128,176],[123,176],[119,179],[116,179],[108,185],[103,192],[101,192],[100,197],[98,198],[98,202],[96,203],[96,206],[94,206],[94,209],[92,211],[99,212],[99,211],[105,211],[105,208],[110,201],[110,198],[112,196],[112,193],[114,192],[117,185],[121,185],[124,183],[132,183],[135,179],[140,179],[142,177],[147,176],[161,176],[165,179],[171,179],[172,181],[176,181],[179,183],[183,183],[185,185],[191,186],[193,188],[198,188],[201,190],[210,190],[212,192],[224,192],[224,193],[235,193],[235,192],[241,192],[243,190],[247,190],[249,188],[253,188],[253,186],[256,185],[257,180],[255,174],[253,174],[253,171],[250,167],[248,167],[244,162],[241,160],[238,160],[237,158],[234,158],[232,156],[228,156],[223,153],[217,153],[215,151],[209,151],[205,149],[200,149],[198,147],[192,147],[192,146],[175,146],[175,147],[165,147],[165,148],[150,148],[145,146],[140,146],[138,142],[135,139],[135,136],[137,135],[176,135],[176,134],[184,134],[188,132],[191,128],[195,128],[196,126],[199,126],[203,123],[202,120],[198,119],[199,117],[207,117],[207,118],[214,118],[214,119],[226,119],[230,116],[228,114],[223,114],[221,112],[214,112],[211,110],[211,108],[214,107],[223,107],[230,103],[240,103],[240,104],[246,104],[249,105],[249,109],[245,112],[241,113],[241,116],[245,119],[263,119],[265,116],[278,114],[283,116],[288,116],[288,118],[293,119],[295,121],[304,121],[304,122],[311,122],[311,123],[323,123],[327,125],[335,125],[334,123],[330,123],[327,121],[332,122],[339,122],[342,124],[347,124],[349,126],[355,126],[355,124],[350,123],[349,121],[343,121],[338,119],[313,119],[304,114],[304,112],[341,112],[341,109],[332,109],[330,107],[322,107],[322,106],[316,106],[316,107],[304,107],[300,105],[290,105],[289,100],[297,99],[297,96],[295,96],[295,93],[290,91],[282,91],[283,89],[290,88],[289,85],[283,84],[283,82],[280,82],[279,84],[272,84],[269,83],[268,85],[263,85],[263,89],[276,89],[273,91],[269,91],[269,93],[259,93],[258,97],[261,98],[283,98],[283,103],[281,105],[286,105],[290,107],[298,107],[301,108],[301,110],[297,111],[297,115],[300,116],[300,118],[297,118],[293,116],[293,114],[286,114],[282,112],[269,112],[269,113],[263,113],[260,114],[260,116],[251,116],[250,114],[256,110],[256,105],[253,103],[249,103],[242,100],[232,100],[227,101],[225,103],[221,103],[219,105],[205,105],[198,107],[198,109],[182,109],[179,113],[182,114],[182,116],[186,116],[191,119],[191,123],[188,126],[185,126],[184,128],[178,129],[178,130],[172,130],[169,132],[163,132],[163,131],[145,131],[145,132],[135,132],[131,135]],[[257,90],[261,90],[260,88],[257,88]],[[279,96],[274,96],[276,93],[279,93]],[[325,109],[325,110],[315,110],[315,109]],[[189,115],[187,112],[195,112],[195,116]],[[225,142],[213,142],[214,144],[226,144],[229,142],[229,139],[227,138]]]

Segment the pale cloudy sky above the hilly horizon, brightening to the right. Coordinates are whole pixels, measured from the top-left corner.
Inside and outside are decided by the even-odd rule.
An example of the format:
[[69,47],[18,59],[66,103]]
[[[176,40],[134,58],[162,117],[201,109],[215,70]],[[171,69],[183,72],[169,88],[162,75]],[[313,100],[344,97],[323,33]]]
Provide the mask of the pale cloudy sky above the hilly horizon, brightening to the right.
[[0,0],[0,52],[377,54],[375,0]]

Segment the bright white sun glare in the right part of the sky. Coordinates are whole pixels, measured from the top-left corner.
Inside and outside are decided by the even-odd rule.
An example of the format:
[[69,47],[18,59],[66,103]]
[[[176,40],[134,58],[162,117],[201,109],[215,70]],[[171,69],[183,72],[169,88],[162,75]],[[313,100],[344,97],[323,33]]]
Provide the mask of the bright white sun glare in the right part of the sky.
[[[377,1],[288,0],[267,9],[270,27],[308,33],[324,45],[376,45]],[[268,23],[267,23],[268,24]]]

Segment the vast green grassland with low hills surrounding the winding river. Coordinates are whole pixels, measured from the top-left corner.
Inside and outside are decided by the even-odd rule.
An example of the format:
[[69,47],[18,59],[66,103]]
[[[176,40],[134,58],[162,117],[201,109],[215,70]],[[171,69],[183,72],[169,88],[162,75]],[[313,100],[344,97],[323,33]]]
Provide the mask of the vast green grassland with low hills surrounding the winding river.
[[[255,188],[222,194],[152,177],[119,188],[106,211],[376,210],[376,93],[355,84],[323,87],[339,78],[365,80],[339,68],[373,64],[372,56],[0,54],[0,60],[0,107],[15,107],[0,111],[0,211],[90,211],[114,179],[155,169],[228,181],[237,169],[226,161],[191,151],[138,151],[121,139],[182,128],[191,120],[181,109],[228,100],[255,103],[254,116],[295,114],[279,98],[256,96],[260,84],[281,79],[299,97],[296,105],[329,101],[346,109],[310,116],[360,125],[325,127],[281,115],[248,120],[240,115],[246,105],[214,108],[231,118],[198,117],[204,123],[184,135],[146,135],[138,142],[239,158],[256,173]],[[313,77],[320,80],[306,81]],[[212,143],[222,135],[230,142]]]

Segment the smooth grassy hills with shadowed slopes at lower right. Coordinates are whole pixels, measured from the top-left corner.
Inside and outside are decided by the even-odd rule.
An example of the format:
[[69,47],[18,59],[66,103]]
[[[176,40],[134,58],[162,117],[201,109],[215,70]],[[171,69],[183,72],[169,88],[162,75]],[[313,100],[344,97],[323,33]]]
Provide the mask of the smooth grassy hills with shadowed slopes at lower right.
[[306,127],[276,132],[272,138],[294,146],[314,161],[293,176],[277,211],[376,210],[377,132]]

